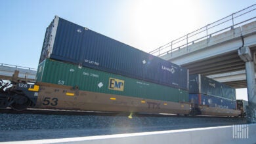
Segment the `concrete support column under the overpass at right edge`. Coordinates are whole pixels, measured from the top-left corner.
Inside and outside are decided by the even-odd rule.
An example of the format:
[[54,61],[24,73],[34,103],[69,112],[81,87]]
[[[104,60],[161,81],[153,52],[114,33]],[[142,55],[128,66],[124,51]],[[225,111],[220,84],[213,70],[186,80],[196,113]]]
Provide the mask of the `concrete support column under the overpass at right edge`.
[[256,84],[255,84],[255,70],[253,55],[248,46],[238,49],[238,56],[245,62],[248,107],[247,107],[247,121],[249,123],[256,123]]

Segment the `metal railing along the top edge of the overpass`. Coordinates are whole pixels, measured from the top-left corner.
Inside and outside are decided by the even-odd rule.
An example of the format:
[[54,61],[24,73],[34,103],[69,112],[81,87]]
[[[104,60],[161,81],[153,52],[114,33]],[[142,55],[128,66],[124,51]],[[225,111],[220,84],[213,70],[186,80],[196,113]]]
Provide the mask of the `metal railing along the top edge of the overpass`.
[[209,39],[213,35],[217,35],[228,29],[234,29],[235,27],[242,26],[242,24],[245,22],[253,22],[253,20],[256,18],[255,10],[256,4],[251,5],[250,7],[221,18],[216,22],[207,24],[206,26],[197,29],[196,31],[192,31],[191,33],[188,33],[179,39],[175,39],[170,43],[160,46],[159,48],[156,48],[149,53],[158,57],[165,54],[172,54],[172,52],[176,50],[180,50],[181,48],[188,48],[189,45],[193,45],[196,42]]

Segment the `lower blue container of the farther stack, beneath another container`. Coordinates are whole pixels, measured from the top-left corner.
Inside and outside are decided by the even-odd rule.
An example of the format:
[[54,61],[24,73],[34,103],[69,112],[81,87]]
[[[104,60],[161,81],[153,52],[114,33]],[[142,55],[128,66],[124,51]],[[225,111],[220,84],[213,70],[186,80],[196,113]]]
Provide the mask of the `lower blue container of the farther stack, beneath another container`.
[[220,107],[223,109],[236,109],[236,101],[205,94],[189,94],[188,100],[198,105],[209,105],[209,107]]

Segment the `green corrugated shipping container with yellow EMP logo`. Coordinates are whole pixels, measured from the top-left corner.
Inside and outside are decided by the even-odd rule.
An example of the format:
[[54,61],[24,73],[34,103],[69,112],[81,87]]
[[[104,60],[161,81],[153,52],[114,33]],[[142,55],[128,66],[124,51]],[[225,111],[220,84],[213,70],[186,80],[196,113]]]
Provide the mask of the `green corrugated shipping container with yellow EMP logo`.
[[37,69],[37,82],[78,86],[79,90],[131,96],[136,98],[157,99],[163,101],[188,101],[188,91],[151,82],[140,81],[45,59]]

